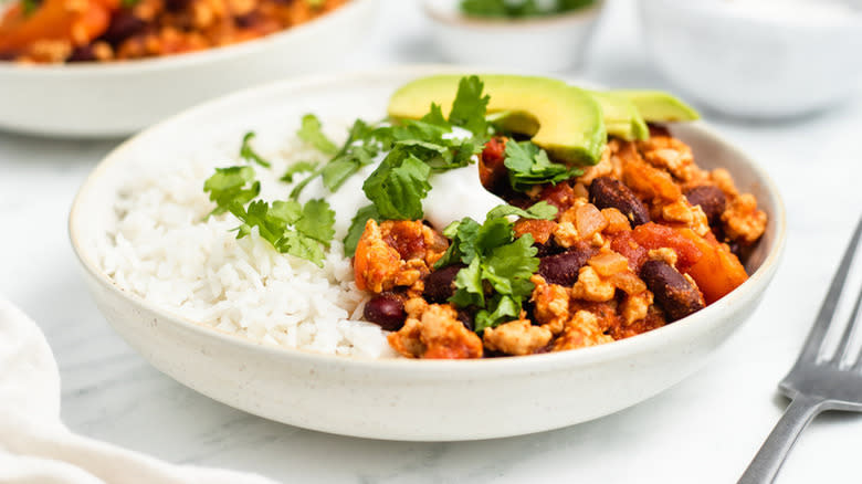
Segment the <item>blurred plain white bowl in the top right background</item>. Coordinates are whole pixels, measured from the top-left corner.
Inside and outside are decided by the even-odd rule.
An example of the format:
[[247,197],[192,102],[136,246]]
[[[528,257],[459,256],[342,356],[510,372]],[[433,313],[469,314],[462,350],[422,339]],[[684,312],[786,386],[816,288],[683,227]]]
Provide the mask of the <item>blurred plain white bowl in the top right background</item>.
[[[862,13],[805,17],[795,10],[800,1],[638,3],[655,65],[685,94],[719,112],[801,115],[839,103],[861,84]],[[822,3],[808,4],[828,7]],[[768,15],[743,13],[769,6]]]

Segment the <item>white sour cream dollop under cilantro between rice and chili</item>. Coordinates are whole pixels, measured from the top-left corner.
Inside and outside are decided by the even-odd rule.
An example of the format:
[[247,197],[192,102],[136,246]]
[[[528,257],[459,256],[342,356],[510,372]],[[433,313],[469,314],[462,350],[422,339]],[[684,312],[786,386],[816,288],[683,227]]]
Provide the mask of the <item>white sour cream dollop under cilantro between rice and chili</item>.
[[[470,131],[453,128],[446,138],[467,138]],[[299,201],[305,203],[311,199],[322,198],[329,202],[335,211],[335,236],[341,239],[347,234],[356,212],[370,204],[362,191],[362,183],[380,161],[386,158],[386,152],[379,154],[374,162],[366,165],[341,185],[335,193],[324,187],[320,178],[312,180],[299,194]],[[473,156],[473,164],[455,168],[442,173],[432,173],[428,182],[431,190],[422,201],[425,220],[437,230],[443,230],[450,223],[470,217],[479,223],[485,221],[485,214],[496,206],[506,203],[505,200],[485,190],[479,179],[479,157]]]

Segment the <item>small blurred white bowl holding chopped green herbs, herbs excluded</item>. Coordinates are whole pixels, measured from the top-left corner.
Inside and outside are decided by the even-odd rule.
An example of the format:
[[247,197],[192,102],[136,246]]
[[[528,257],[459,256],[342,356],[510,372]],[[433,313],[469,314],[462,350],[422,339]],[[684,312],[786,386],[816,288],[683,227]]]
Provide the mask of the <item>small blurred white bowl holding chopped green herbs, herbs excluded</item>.
[[425,0],[440,52],[460,64],[559,72],[580,65],[605,0],[570,13],[524,20],[476,19],[460,0]]

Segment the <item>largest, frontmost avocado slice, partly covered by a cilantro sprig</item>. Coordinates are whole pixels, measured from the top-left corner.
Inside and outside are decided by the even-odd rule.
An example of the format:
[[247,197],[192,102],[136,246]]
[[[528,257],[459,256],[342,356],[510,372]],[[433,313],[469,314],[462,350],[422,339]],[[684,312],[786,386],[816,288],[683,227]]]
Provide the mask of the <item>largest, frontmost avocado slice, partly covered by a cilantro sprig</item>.
[[[507,112],[497,119],[506,129],[532,136],[533,143],[566,164],[596,165],[601,160],[607,133],[601,107],[589,93],[546,77],[480,77],[484,93],[491,96],[488,114]],[[418,119],[431,103],[448,115],[460,80],[460,75],[434,75],[401,86],[389,101],[389,116]]]

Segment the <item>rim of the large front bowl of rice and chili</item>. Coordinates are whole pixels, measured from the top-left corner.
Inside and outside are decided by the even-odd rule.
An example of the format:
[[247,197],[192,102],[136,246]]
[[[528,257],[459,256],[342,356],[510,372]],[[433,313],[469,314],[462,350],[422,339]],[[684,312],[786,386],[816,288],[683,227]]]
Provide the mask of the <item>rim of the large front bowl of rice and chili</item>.
[[[742,305],[744,302],[756,298],[766,288],[769,283],[770,273],[777,269],[780,261],[780,256],[784,252],[786,244],[787,220],[785,204],[781,200],[781,196],[777,186],[771,178],[757,164],[750,160],[742,150],[735,146],[728,144],[712,129],[705,126],[704,123],[697,122],[692,125],[700,134],[712,138],[713,140],[724,145],[737,159],[743,160],[749,165],[751,171],[757,176],[758,181],[763,183],[765,192],[770,196],[775,204],[775,213],[770,214],[770,223],[776,224],[776,238],[772,242],[772,246],[764,259],[760,266],[751,274],[745,283],[739,287],[730,292],[728,295],[722,297],[717,302],[707,306],[697,313],[680,319],[673,324],[663,326],[661,328],[653,329],[648,333],[643,333],[630,338],[608,343],[605,345],[592,346],[588,348],[580,348],[569,351],[548,353],[540,355],[529,355],[519,357],[503,357],[503,358],[483,358],[471,360],[425,360],[425,359],[410,359],[410,358],[368,358],[347,355],[332,355],[316,353],[313,350],[298,349],[298,348],[285,348],[264,345],[259,341],[236,336],[233,334],[222,333],[212,326],[204,325],[203,323],[195,322],[190,318],[177,315],[169,309],[162,308],[154,303],[150,303],[143,297],[134,294],[129,294],[119,287],[117,287],[111,278],[98,267],[97,262],[85,256],[82,250],[82,241],[84,240],[81,233],[78,233],[77,221],[86,218],[87,214],[83,212],[81,208],[82,199],[85,194],[98,185],[98,180],[103,172],[113,164],[122,162],[125,152],[130,149],[130,146],[137,143],[138,138],[144,137],[153,131],[169,129],[171,125],[186,123],[187,118],[193,118],[201,112],[206,112],[212,108],[219,108],[222,105],[242,105],[243,99],[248,97],[255,97],[264,95],[270,91],[284,91],[284,90],[298,90],[305,86],[314,86],[325,82],[332,82],[338,80],[339,82],[346,82],[349,80],[360,80],[364,77],[379,78],[381,76],[424,76],[441,73],[472,73],[472,72],[488,72],[486,69],[469,69],[451,65],[434,65],[434,64],[419,64],[401,67],[383,69],[378,71],[357,72],[353,74],[335,74],[335,75],[315,75],[306,76],[296,80],[281,81],[275,83],[269,83],[251,88],[246,88],[234,94],[219,97],[217,99],[200,104],[196,107],[187,109],[178,115],[171,116],[153,127],[145,129],[144,131],[127,139],[114,150],[112,150],[93,170],[87,179],[82,185],[75,199],[72,203],[72,209],[69,218],[69,232],[72,242],[72,248],[81,262],[84,270],[90,273],[99,284],[107,287],[116,295],[128,299],[130,305],[138,305],[145,309],[153,312],[157,316],[161,317],[164,322],[180,326],[183,329],[190,330],[201,338],[213,338],[228,345],[235,345],[249,351],[262,351],[274,359],[284,360],[288,362],[291,360],[303,360],[311,364],[328,365],[328,366],[351,366],[359,367],[367,370],[374,370],[376,372],[391,372],[398,373],[409,369],[413,372],[422,372],[424,375],[444,375],[451,371],[470,371],[471,375],[476,377],[483,376],[498,376],[501,373],[524,373],[542,371],[547,368],[566,367],[575,368],[579,366],[588,366],[596,362],[616,360],[626,358],[629,354],[643,353],[649,350],[656,350],[663,346],[672,345],[677,340],[685,340],[694,334],[707,333],[716,325],[732,324],[727,318],[723,318],[722,314],[729,311],[735,305]],[[577,80],[565,78],[567,82],[577,82]],[[585,83],[581,83],[585,84]],[[91,251],[92,252],[92,251]]]

